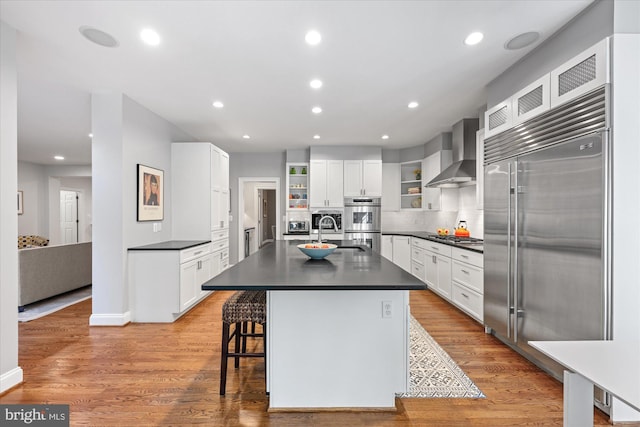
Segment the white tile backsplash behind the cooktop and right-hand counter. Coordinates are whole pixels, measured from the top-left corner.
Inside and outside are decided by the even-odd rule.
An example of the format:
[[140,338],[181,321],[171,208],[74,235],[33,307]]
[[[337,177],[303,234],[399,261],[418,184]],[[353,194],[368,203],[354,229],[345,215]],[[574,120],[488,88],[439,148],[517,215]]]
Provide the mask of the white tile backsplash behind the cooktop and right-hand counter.
[[[451,197],[451,190],[446,190]],[[429,231],[448,228],[453,231],[459,221],[466,221],[472,237],[482,239],[484,236],[484,214],[476,204],[476,186],[471,185],[455,190],[457,193],[457,210],[424,211],[399,210],[382,212],[382,231]],[[450,209],[454,206],[451,203]]]

